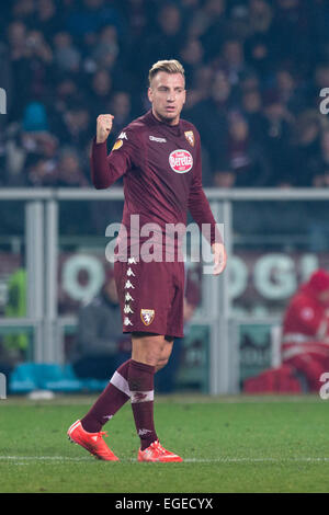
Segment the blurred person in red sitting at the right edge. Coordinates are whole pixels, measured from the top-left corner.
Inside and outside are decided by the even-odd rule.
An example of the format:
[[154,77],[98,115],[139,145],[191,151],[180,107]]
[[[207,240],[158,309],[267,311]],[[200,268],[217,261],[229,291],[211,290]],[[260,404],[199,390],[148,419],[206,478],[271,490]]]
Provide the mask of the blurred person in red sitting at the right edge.
[[316,270],[291,298],[282,321],[281,364],[243,382],[246,393],[318,393],[329,370],[329,273]]

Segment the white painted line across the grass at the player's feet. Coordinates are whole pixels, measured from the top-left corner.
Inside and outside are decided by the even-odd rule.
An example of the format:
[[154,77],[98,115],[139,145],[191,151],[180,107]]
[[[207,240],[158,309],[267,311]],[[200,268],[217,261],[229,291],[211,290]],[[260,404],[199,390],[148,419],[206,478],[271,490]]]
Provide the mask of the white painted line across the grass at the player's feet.
[[[26,462],[38,462],[38,461],[65,461],[65,462],[77,462],[77,461],[91,461],[92,456],[88,457],[69,457],[69,456],[0,456],[0,461],[13,461],[14,465],[21,465],[23,461]],[[97,461],[97,460],[94,460]],[[124,458],[121,460],[123,464],[138,464],[137,459]],[[329,457],[298,457],[298,458],[238,458],[238,457],[223,457],[223,458],[212,458],[212,459],[202,459],[202,458],[185,458],[183,464],[298,464],[298,462],[329,462]]]

